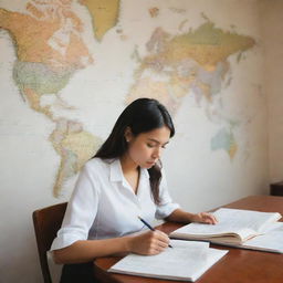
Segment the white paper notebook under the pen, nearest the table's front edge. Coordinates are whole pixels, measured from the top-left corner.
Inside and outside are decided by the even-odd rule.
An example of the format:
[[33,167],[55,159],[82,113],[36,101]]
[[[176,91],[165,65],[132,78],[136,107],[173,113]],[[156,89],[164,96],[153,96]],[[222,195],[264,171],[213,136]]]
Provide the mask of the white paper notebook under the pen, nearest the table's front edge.
[[179,281],[196,281],[228,251],[209,248],[207,242],[171,240],[172,248],[157,255],[129,254],[108,271]]

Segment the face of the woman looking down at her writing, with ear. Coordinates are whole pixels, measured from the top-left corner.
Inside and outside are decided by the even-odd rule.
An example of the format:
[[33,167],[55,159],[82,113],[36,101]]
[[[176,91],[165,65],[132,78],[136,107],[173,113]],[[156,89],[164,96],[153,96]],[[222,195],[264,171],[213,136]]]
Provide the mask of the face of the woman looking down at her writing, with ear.
[[170,139],[170,129],[164,126],[142,133],[136,137],[128,132],[125,137],[128,140],[128,157],[136,166],[148,169],[161,157],[163,150]]

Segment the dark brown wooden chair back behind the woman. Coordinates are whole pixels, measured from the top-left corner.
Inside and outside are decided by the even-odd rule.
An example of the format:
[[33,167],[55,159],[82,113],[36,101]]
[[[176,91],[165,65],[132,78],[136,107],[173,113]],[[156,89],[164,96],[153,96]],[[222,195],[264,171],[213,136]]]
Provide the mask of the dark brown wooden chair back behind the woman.
[[44,283],[52,283],[46,252],[50,250],[57,230],[61,228],[67,202],[33,211],[33,226],[38,243],[40,265]]

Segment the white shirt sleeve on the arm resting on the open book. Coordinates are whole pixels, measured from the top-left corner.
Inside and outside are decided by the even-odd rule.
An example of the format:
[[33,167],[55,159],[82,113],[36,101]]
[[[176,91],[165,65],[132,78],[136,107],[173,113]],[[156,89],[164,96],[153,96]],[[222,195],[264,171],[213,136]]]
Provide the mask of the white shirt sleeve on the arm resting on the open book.
[[163,177],[159,185],[159,198],[160,203],[157,206],[155,217],[156,219],[164,219],[172,213],[174,210],[179,208],[178,203],[172,202],[171,197],[168,192],[167,180],[165,171],[161,170]]

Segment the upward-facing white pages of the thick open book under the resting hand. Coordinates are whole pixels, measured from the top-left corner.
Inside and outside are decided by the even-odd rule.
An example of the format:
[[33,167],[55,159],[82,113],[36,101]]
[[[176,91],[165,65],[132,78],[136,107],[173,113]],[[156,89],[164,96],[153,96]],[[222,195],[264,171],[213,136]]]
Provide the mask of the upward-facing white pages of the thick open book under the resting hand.
[[190,223],[174,231],[175,234],[189,234],[203,237],[203,239],[213,235],[238,234],[241,240],[250,235],[258,234],[271,221],[276,221],[280,218],[279,213],[259,212],[251,210],[227,209],[221,208],[213,212],[218,219],[217,224]]

